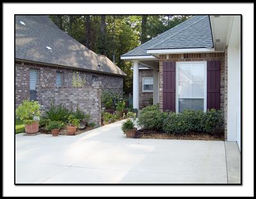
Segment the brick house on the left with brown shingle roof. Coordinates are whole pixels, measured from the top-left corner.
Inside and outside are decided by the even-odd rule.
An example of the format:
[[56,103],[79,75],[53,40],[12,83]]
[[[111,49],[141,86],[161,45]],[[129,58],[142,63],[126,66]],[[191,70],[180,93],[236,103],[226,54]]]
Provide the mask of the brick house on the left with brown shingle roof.
[[[74,77],[84,87],[97,82],[102,90],[122,92],[125,75],[106,56],[61,31],[46,15],[15,15],[15,107],[25,99],[42,101],[38,88],[72,88]],[[46,94],[50,98],[53,93]]]

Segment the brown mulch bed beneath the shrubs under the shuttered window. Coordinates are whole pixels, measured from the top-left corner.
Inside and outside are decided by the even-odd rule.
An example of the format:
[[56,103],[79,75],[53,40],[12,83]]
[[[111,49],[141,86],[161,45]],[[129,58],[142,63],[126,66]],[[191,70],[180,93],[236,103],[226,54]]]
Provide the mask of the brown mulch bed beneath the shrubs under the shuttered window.
[[190,139],[190,140],[218,140],[224,141],[225,134],[223,131],[211,132],[199,134],[195,132],[189,132],[188,134],[167,134],[165,132],[159,132],[150,129],[140,129],[136,131],[135,138],[143,139]]

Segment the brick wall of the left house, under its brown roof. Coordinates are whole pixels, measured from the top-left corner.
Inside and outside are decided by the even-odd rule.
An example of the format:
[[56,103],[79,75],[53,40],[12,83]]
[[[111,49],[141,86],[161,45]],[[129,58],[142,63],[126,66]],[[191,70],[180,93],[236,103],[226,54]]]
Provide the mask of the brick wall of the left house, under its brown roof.
[[[38,86],[55,87],[56,72],[63,72],[63,86],[72,86],[73,73],[79,70],[51,67],[35,63],[26,63],[15,61],[15,107],[20,102],[29,99],[29,69],[38,70]],[[99,81],[102,83],[102,90],[111,92],[123,92],[123,77],[99,74],[95,72],[79,71],[80,76],[85,79],[86,86],[92,86],[92,83]]]

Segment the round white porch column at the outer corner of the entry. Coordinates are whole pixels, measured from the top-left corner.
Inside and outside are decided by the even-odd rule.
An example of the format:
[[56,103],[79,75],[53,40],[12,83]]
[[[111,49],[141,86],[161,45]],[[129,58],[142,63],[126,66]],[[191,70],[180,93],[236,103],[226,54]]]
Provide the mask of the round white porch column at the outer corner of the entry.
[[139,109],[139,63],[133,62],[133,108]]

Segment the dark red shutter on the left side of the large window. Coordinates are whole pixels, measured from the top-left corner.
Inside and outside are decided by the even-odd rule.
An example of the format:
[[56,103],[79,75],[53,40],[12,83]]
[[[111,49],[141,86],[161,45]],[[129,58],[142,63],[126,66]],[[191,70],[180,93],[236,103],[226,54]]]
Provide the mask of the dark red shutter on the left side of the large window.
[[175,61],[163,62],[163,109],[175,111]]

